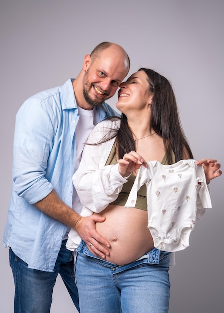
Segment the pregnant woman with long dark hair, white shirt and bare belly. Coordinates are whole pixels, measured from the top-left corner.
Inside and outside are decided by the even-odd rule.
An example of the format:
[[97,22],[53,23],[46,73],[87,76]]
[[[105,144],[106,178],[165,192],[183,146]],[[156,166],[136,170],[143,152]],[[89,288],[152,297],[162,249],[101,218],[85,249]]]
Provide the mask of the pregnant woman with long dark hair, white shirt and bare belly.
[[[79,245],[75,254],[80,312],[167,313],[173,253],[154,247],[146,185],[138,191],[135,207],[124,206],[141,166],[147,168],[147,162],[155,160],[170,165],[193,155],[165,77],[141,68],[120,85],[116,107],[121,119],[94,128],[73,176],[81,215],[106,217],[96,223],[96,230],[110,243],[109,255],[103,257],[95,254],[95,239],[80,243],[75,231],[69,234],[67,247]],[[221,175],[216,160],[204,162],[207,182]],[[206,187],[205,179],[202,184]]]

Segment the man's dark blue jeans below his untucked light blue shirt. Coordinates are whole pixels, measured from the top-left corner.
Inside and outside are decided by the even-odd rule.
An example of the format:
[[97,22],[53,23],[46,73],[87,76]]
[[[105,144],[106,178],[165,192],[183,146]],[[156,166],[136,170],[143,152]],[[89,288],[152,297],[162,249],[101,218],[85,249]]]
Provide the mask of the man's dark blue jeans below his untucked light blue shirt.
[[79,311],[73,252],[66,249],[65,243],[66,240],[63,240],[54,272],[28,268],[27,264],[10,249],[10,267],[15,284],[15,313],[49,313],[53,287],[58,274],[61,275],[73,303]]

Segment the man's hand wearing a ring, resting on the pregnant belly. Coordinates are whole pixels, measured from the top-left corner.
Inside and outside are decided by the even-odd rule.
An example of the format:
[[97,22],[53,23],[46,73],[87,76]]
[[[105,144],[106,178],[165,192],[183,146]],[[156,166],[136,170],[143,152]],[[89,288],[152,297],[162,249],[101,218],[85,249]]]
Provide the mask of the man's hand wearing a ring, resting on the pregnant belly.
[[[77,221],[75,229],[79,236],[88,246],[88,249],[96,256],[105,259],[105,255],[109,256],[110,243],[104,239],[96,231],[96,222],[104,222],[105,217],[99,215],[91,215],[87,217],[81,217]],[[107,247],[107,248],[106,248]]]

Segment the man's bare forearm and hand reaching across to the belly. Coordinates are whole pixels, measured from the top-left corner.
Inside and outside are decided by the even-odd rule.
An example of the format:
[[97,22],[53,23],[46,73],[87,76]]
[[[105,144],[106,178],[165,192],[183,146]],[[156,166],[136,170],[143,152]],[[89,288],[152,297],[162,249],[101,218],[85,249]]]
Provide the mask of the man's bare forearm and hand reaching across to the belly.
[[110,248],[109,242],[95,229],[95,223],[103,222],[105,217],[99,215],[80,216],[67,206],[54,190],[34,206],[46,215],[75,229],[86,244],[92,244],[91,249],[96,255],[101,258],[105,258],[105,255],[109,256],[109,251],[105,248]]

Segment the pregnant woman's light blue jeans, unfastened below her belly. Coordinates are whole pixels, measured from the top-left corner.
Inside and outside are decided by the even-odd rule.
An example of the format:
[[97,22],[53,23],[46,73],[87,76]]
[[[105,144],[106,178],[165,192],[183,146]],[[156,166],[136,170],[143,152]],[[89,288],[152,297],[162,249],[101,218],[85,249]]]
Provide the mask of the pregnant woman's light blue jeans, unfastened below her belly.
[[124,266],[93,255],[81,241],[77,248],[76,283],[81,313],[167,313],[169,252],[154,248]]

